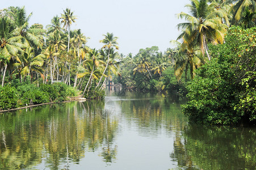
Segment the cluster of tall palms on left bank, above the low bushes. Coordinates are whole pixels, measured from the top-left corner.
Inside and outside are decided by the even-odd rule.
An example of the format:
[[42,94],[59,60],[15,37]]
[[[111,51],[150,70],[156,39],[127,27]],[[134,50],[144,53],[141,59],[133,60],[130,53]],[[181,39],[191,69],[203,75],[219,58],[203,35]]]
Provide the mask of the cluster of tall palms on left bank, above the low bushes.
[[30,26],[31,15],[24,7],[0,10],[2,87],[16,87],[17,79],[36,87],[61,82],[87,99],[103,97],[103,85],[119,65],[117,37],[106,33],[102,48],[91,49],[81,29],[70,29],[77,18],[69,8],[54,16],[46,29],[42,24]]

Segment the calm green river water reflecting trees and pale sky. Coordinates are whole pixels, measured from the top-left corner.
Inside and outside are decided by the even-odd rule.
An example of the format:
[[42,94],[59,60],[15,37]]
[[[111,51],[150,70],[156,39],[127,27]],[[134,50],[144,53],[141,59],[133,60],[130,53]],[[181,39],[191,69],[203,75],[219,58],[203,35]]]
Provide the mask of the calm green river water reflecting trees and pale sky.
[[0,114],[0,169],[255,169],[255,128],[191,125],[181,104],[107,91]]

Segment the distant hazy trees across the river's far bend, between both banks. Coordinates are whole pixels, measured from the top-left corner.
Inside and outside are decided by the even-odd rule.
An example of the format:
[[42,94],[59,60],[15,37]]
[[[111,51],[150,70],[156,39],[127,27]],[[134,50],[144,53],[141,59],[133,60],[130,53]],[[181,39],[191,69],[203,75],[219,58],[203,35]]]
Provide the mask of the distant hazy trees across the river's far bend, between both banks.
[[168,48],[162,53],[152,46],[140,49],[135,56],[121,56],[120,75],[115,76],[114,82],[130,90],[175,91],[184,95],[187,80],[175,78],[175,53],[177,49]]

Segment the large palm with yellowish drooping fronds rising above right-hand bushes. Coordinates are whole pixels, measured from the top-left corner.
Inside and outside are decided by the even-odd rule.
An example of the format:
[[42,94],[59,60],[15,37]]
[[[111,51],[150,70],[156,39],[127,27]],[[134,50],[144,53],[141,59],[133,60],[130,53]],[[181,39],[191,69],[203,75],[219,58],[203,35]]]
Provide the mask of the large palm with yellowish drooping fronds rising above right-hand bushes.
[[199,45],[202,53],[206,53],[208,59],[207,40],[217,44],[224,42],[224,33],[227,26],[222,23],[221,18],[212,13],[213,6],[208,5],[207,0],[191,0],[191,5],[186,5],[192,15],[181,12],[178,18],[185,18],[186,23],[178,24],[178,29],[182,29],[177,40],[182,40],[186,46]]

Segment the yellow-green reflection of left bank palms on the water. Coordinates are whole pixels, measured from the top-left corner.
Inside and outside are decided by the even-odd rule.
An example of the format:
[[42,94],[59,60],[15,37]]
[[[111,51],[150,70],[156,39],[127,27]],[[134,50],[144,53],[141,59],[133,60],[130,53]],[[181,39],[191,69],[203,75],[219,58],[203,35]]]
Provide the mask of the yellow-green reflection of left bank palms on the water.
[[79,163],[85,151],[101,150],[112,162],[118,121],[104,112],[104,102],[65,103],[0,115],[0,169],[50,169]]

